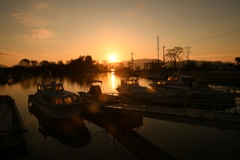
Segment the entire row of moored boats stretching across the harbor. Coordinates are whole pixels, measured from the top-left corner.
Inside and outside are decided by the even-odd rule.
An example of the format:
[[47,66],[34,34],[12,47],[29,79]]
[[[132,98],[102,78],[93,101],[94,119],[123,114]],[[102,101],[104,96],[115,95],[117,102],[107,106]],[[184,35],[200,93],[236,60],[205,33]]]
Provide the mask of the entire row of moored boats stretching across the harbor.
[[224,110],[236,106],[234,93],[214,91],[204,82],[203,79],[175,74],[167,80],[154,81],[148,87],[143,87],[138,78],[130,77],[121,80],[121,85],[116,88],[118,95],[111,95],[102,92],[101,80],[88,82],[88,91],[78,94],[64,90],[62,83],[51,81],[37,84],[37,92],[28,97],[30,106],[35,106],[52,118],[78,116],[90,103],[109,105],[144,101],[146,105],[204,110]]

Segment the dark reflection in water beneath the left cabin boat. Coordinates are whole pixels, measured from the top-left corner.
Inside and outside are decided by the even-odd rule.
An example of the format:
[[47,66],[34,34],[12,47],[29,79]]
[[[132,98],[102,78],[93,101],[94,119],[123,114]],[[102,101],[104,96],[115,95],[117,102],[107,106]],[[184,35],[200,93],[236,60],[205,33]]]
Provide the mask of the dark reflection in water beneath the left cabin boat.
[[91,134],[82,117],[55,119],[43,114],[35,107],[29,107],[29,112],[38,119],[39,132],[45,138],[53,137],[63,146],[81,148],[80,152],[90,149]]

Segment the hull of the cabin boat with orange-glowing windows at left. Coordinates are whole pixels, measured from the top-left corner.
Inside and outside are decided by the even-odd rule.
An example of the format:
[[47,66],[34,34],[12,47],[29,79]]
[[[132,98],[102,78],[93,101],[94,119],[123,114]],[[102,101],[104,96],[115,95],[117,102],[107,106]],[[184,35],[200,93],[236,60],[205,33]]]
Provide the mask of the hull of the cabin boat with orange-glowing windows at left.
[[74,118],[83,112],[83,110],[88,105],[87,101],[74,103],[70,105],[61,105],[61,106],[48,106],[44,105],[38,101],[34,95],[28,96],[29,107],[35,107],[39,111],[43,112],[49,117],[52,118]]

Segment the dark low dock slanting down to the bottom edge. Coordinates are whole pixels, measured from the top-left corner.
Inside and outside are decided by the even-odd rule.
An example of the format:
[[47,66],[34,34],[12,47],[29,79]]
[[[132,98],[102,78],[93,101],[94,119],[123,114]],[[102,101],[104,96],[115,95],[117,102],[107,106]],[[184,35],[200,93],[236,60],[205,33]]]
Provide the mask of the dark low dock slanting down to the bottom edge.
[[140,115],[107,111],[92,104],[82,116],[106,130],[106,143],[122,159],[174,159],[135,131],[143,125]]

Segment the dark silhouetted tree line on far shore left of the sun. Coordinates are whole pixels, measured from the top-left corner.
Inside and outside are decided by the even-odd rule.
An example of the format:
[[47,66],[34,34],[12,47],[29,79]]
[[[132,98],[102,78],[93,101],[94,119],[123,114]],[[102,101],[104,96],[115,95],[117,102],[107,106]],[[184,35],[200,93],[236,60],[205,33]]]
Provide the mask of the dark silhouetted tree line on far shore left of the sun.
[[90,55],[79,56],[76,59],[68,60],[66,64],[61,60],[56,63],[47,60],[38,62],[24,58],[12,68],[16,72],[24,71],[31,74],[42,74],[48,73],[49,71],[54,74],[75,74],[106,71],[108,69],[107,65],[100,64],[98,61],[93,60]]

